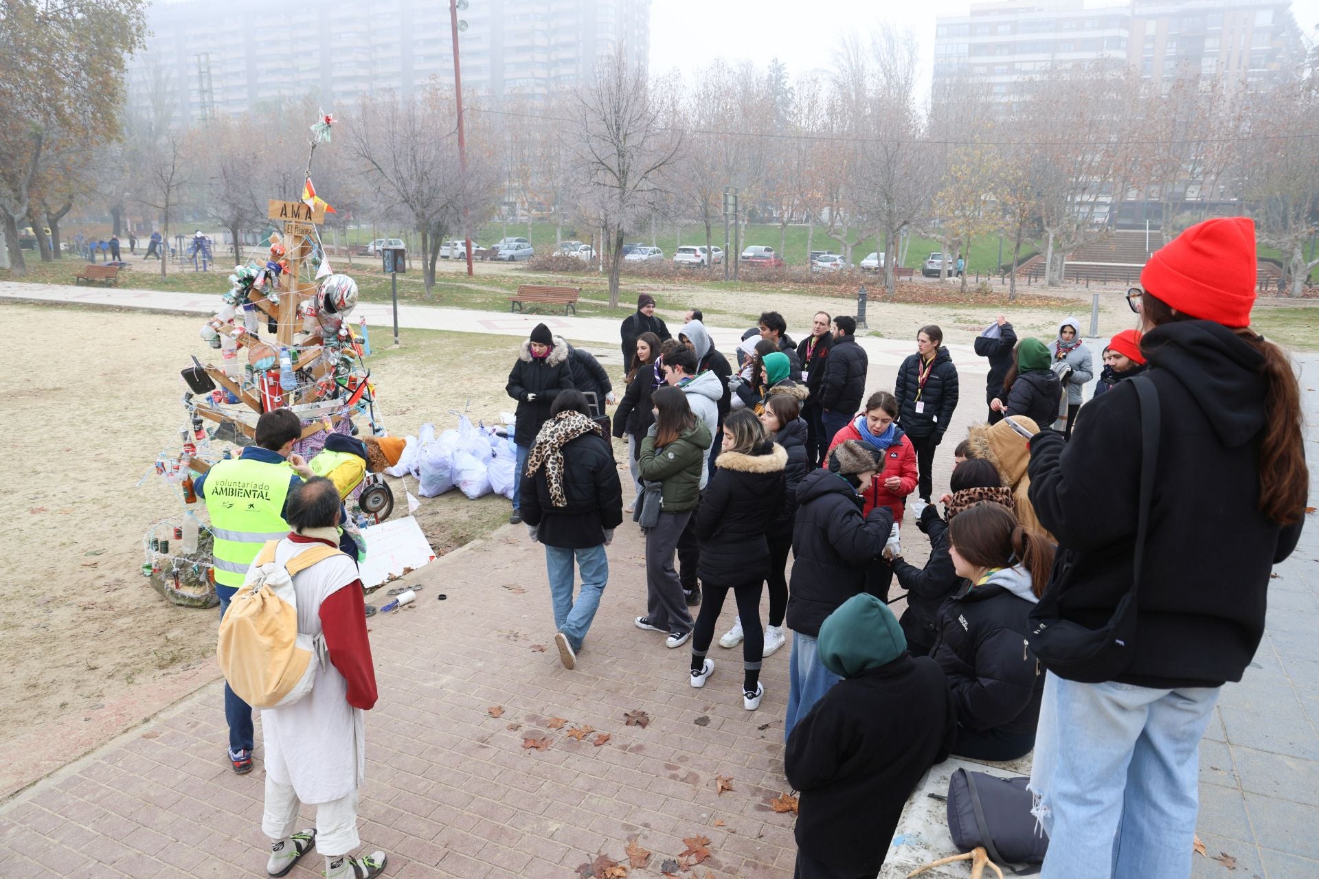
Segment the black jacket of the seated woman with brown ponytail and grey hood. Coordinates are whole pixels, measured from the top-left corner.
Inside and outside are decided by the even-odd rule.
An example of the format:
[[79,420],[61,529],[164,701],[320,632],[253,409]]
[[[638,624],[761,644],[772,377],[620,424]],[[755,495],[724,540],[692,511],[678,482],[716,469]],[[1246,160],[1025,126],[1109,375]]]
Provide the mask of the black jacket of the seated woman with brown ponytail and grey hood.
[[989,575],[981,586],[968,585],[939,609],[930,656],[948,676],[960,726],[1035,731],[1045,669],[1026,643],[1034,602],[1030,575],[1016,567]]

